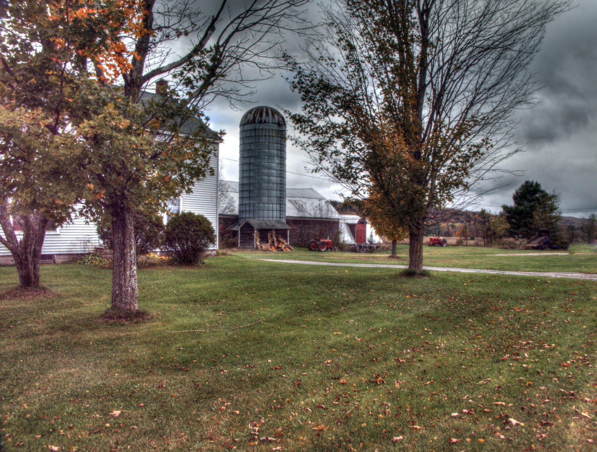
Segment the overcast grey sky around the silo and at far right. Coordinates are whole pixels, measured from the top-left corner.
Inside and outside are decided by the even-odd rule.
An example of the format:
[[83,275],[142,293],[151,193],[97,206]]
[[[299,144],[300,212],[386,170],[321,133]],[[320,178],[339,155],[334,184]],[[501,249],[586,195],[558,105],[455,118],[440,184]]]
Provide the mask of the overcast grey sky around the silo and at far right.
[[[534,179],[561,194],[564,215],[588,216],[597,212],[596,24],[597,0],[580,0],[573,10],[548,26],[532,66],[543,86],[538,92],[540,103],[521,112],[516,132],[526,150],[504,163],[507,169],[522,171],[524,175],[504,178],[501,182],[507,186],[486,196],[484,206],[476,206],[478,209],[500,211],[498,206],[512,202],[512,192],[518,185]],[[291,49],[296,49],[296,45],[294,38],[287,42]],[[256,94],[250,100],[253,104],[239,104],[238,111],[230,109],[227,102],[218,101],[207,112],[211,128],[226,131],[220,157],[224,177],[233,181],[238,181],[238,125],[242,115],[258,105],[295,112],[300,109],[298,95],[288,89],[282,75],[256,83]],[[337,185],[310,175],[302,151],[287,143],[287,155],[287,187],[312,187],[330,199],[340,199]]]

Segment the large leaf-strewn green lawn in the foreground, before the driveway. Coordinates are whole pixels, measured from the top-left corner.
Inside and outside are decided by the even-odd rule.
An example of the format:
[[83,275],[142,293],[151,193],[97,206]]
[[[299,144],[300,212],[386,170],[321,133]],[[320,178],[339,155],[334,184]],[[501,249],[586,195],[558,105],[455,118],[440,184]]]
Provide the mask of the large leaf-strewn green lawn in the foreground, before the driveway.
[[595,450],[597,283],[398,273],[220,256],[106,324],[109,270],[45,265],[0,299],[0,449]]

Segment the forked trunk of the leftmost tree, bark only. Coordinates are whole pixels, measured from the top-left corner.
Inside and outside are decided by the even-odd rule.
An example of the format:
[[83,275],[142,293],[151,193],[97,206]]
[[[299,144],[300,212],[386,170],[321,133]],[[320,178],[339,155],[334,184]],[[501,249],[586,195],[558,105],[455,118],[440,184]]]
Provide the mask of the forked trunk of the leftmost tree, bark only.
[[[13,222],[18,223],[23,230],[20,240],[15,233]],[[41,212],[21,215],[11,221],[6,203],[0,203],[0,225],[4,232],[4,237],[0,236],[0,243],[13,255],[21,287],[39,286],[39,259],[47,224],[48,218]]]

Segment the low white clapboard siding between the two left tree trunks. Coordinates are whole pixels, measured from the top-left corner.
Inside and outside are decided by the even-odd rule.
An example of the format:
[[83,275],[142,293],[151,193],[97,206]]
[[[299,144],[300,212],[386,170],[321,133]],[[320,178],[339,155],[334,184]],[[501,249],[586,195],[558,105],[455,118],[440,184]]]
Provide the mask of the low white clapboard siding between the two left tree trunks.
[[[72,221],[64,223],[59,227],[58,232],[47,231],[45,233],[44,246],[41,249],[41,253],[90,253],[99,244],[100,237],[97,235],[96,225],[93,222],[86,224],[85,218],[75,217]],[[0,256],[10,255],[10,251],[4,245],[0,244]]]

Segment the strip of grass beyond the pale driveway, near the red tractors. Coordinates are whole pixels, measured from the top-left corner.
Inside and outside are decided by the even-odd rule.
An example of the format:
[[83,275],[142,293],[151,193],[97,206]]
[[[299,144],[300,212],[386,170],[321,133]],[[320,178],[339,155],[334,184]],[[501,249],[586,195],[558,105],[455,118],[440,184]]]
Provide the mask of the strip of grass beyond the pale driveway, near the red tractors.
[[[597,247],[574,245],[571,246],[569,251],[504,250],[481,246],[424,246],[423,265],[431,267],[487,268],[490,270],[579,271],[582,273],[597,273]],[[300,259],[303,261],[408,265],[408,245],[398,245],[398,259],[391,260],[388,259],[389,252],[387,251],[373,254],[350,252],[320,253],[300,248],[295,252],[286,253],[241,252],[240,254],[250,258],[265,257],[268,259]]]

